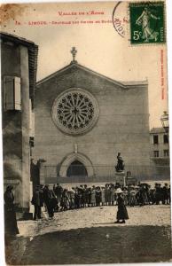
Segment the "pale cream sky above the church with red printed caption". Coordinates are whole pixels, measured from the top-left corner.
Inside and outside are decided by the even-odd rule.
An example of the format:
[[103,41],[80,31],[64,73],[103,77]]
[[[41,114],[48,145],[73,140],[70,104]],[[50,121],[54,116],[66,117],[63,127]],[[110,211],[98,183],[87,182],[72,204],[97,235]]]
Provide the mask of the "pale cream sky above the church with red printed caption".
[[[150,128],[160,127],[160,116],[168,110],[166,44],[131,45],[128,4],[121,3],[114,13],[114,20],[125,20],[121,23],[124,37],[113,27],[115,5],[115,2],[12,5],[8,12],[4,9],[2,30],[39,46],[37,81],[68,65],[73,46],[77,49],[78,63],[99,74],[121,82],[148,80]],[[66,24],[57,24],[62,22]],[[164,99],[160,84],[162,50]]]

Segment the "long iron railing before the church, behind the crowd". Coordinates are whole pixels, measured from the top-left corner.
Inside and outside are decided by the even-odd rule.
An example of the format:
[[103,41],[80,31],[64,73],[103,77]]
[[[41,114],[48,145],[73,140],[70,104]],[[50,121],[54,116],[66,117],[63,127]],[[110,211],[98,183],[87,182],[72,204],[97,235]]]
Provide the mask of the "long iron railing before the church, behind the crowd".
[[[113,166],[93,166],[94,176],[75,175],[59,176],[57,166],[44,166],[43,175],[45,184],[84,184],[84,183],[113,183],[115,169]],[[130,172],[130,173],[129,173]],[[125,167],[125,175],[137,178],[137,180],[165,180],[170,178],[169,166],[134,166]]]

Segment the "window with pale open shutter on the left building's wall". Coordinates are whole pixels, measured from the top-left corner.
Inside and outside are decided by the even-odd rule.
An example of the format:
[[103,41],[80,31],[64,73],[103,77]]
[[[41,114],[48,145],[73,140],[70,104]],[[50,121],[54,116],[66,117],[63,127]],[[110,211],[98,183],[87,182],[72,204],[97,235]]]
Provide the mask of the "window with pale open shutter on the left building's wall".
[[20,77],[4,77],[4,110],[21,110]]

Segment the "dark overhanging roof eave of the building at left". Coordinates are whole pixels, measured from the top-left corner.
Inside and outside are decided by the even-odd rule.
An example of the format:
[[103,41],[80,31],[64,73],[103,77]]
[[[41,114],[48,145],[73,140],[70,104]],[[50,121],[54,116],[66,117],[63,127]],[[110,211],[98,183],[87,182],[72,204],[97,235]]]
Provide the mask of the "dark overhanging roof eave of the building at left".
[[32,104],[34,104],[38,46],[34,42],[28,41],[25,38],[21,38],[17,35],[11,35],[5,32],[0,32],[0,39],[4,42],[17,43],[27,47],[29,69],[29,95],[30,98],[32,98]]

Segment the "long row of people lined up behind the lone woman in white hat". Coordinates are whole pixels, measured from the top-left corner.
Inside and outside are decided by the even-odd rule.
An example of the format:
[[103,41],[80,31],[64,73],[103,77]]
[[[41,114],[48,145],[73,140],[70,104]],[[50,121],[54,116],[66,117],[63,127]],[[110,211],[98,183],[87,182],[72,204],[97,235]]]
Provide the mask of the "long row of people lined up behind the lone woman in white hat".
[[117,205],[118,190],[125,206],[135,207],[151,204],[170,204],[170,186],[168,184],[149,184],[120,186],[120,184],[105,184],[104,186],[88,186],[87,184],[63,188],[60,184],[37,185],[33,194],[32,204],[35,206],[34,219],[41,218],[41,207],[46,208],[49,218],[54,212],[81,207],[98,207]]

